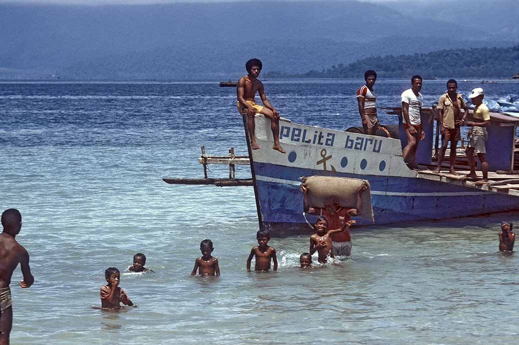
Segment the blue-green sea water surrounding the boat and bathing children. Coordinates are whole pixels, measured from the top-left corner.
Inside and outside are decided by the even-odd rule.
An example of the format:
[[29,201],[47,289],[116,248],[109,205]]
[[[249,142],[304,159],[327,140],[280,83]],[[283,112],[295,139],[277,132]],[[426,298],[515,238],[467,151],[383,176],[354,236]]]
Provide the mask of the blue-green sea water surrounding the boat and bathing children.
[[[446,80],[425,80],[425,106]],[[459,82],[488,97],[517,82]],[[294,122],[359,126],[362,80],[266,81]],[[377,105],[399,106],[408,80],[378,80]],[[247,154],[234,88],[216,82],[0,83],[0,208],[23,217],[17,240],[35,283],[12,277],[13,344],[516,343],[517,254],[498,252],[499,213],[352,229],[351,258],[302,271],[309,236],[272,238],[279,269],[248,274],[258,229],[251,187],[169,185],[203,177],[208,154]],[[383,124],[394,115],[379,110]],[[266,148],[269,149],[269,148]],[[209,177],[226,177],[210,166]],[[250,177],[237,166],[238,178]],[[467,205],[470,207],[470,205]],[[210,238],[220,278],[190,277]],[[154,274],[126,270],[135,253]],[[137,308],[100,306],[115,266]]]

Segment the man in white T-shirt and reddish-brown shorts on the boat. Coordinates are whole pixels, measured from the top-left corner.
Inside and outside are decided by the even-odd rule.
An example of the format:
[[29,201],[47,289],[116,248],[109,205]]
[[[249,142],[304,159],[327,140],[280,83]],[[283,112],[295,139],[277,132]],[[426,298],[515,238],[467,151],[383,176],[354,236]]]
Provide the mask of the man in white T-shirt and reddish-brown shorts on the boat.
[[418,75],[411,78],[411,89],[402,92],[402,117],[404,131],[407,136],[407,145],[402,151],[404,162],[409,168],[416,169],[415,163],[418,142],[425,138],[424,130],[421,126],[421,107],[423,97],[420,93],[422,78]]

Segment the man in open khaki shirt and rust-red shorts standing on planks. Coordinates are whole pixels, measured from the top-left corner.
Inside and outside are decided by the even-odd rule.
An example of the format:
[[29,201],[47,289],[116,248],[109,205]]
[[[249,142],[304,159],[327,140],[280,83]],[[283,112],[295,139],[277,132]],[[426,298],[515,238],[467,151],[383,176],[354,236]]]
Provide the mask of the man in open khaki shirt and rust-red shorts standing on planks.
[[[447,92],[440,96],[438,100],[438,110],[440,112],[440,132],[442,133],[442,148],[438,154],[438,166],[434,170],[436,174],[440,173],[440,167],[445,156],[445,150],[450,141],[450,169],[449,174],[459,175],[454,170],[456,162],[456,146],[458,140],[461,139],[459,126],[465,123],[465,119],[469,114],[469,108],[460,94],[456,93],[458,83],[454,79],[447,81]],[[460,114],[463,109],[463,116]]]

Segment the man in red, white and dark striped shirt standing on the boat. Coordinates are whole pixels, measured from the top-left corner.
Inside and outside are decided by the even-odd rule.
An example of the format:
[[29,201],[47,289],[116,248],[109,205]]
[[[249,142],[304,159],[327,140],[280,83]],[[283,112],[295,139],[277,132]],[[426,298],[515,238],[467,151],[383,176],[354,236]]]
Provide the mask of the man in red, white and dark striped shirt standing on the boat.
[[379,123],[373,85],[375,85],[375,81],[377,80],[377,73],[371,69],[367,70],[364,73],[364,80],[366,84],[357,90],[357,102],[359,103],[362,129],[364,134],[376,135]]

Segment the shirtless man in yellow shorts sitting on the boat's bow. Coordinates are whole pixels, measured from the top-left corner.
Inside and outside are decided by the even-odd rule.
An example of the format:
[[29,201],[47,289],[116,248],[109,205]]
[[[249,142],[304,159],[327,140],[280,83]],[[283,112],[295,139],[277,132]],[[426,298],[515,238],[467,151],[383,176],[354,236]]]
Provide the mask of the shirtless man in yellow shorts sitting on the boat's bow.
[[[263,83],[257,79],[262,67],[263,65],[258,59],[247,61],[245,68],[247,68],[249,74],[238,80],[238,87],[236,88],[238,102],[236,102],[236,106],[238,107],[240,114],[247,114],[247,126],[249,129],[249,137],[251,139],[251,148],[253,150],[260,148],[256,143],[256,138],[254,137],[254,114],[258,112],[264,114],[265,117],[270,119],[270,129],[272,130],[272,136],[274,136],[274,146],[272,146],[272,149],[285,153],[281,145],[279,145],[279,113],[276,108],[272,107],[270,102],[268,102],[263,88]],[[254,96],[256,95],[256,92],[260,93],[264,107],[255,103]]]

